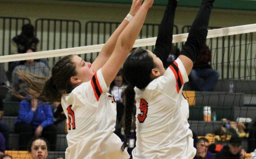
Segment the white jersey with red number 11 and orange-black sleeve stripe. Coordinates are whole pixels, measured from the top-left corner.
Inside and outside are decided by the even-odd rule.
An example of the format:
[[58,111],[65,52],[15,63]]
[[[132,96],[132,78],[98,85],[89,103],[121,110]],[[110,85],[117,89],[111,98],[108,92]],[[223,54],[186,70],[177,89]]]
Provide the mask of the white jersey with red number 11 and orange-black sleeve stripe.
[[107,91],[100,69],[91,81],[62,95],[68,128],[66,159],[129,158],[127,151],[120,151],[122,142],[113,133],[116,102]]

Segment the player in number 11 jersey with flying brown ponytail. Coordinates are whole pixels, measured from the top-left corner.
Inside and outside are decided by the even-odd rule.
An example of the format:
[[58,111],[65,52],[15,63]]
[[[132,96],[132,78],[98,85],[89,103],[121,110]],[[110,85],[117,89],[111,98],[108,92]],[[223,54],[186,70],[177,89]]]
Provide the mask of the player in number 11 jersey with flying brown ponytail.
[[122,142],[113,133],[116,103],[107,91],[153,4],[153,0],[144,0],[142,5],[141,2],[133,0],[130,13],[93,64],[71,55],[57,61],[49,79],[19,72],[26,84],[36,91],[35,94],[26,92],[31,98],[50,103],[61,101],[68,127],[66,159],[129,158],[127,151],[120,150]]

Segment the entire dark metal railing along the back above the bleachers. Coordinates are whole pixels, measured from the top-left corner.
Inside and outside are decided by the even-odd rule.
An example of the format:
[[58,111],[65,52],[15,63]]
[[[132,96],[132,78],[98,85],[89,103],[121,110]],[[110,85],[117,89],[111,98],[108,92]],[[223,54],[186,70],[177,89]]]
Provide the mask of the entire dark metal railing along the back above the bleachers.
[[[22,25],[31,23],[28,18],[0,17],[0,56],[9,55],[11,39],[21,33]],[[81,23],[76,20],[37,19],[35,21],[35,35],[40,39],[39,50],[54,50],[81,45],[95,45],[106,43],[106,40],[119,26],[119,22],[88,21],[85,33],[81,32]],[[208,30],[220,27],[209,27]],[[190,26],[184,26],[182,33],[187,33]],[[144,24],[138,39],[156,37],[159,24]],[[178,34],[177,26],[174,33]],[[82,39],[84,38],[84,39]],[[221,79],[256,79],[256,44],[255,34],[239,34],[207,39],[207,45],[212,51],[212,68],[220,73]],[[85,40],[85,41],[84,41]],[[176,43],[181,46],[183,43]],[[153,50],[154,46],[143,47]],[[181,48],[179,48],[181,49]],[[98,53],[81,55],[85,60],[93,62]],[[58,58],[49,58],[49,65]]]

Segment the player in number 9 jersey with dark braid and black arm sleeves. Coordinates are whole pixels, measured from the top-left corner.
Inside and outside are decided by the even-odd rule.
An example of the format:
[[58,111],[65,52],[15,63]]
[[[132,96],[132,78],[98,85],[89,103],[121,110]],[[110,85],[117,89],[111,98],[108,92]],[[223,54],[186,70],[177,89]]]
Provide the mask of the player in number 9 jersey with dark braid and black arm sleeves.
[[[128,146],[130,138],[131,117],[128,116],[132,116],[135,97],[137,141],[132,150],[134,159],[194,158],[196,149],[187,120],[189,106],[182,89],[188,82],[196,54],[206,41],[213,2],[202,0],[181,55],[168,69],[164,69],[163,63],[171,50],[176,0],[168,0],[154,54],[149,50],[138,50],[125,61],[124,77],[131,86],[125,90],[126,138],[122,150]],[[136,94],[132,93],[134,90]]]

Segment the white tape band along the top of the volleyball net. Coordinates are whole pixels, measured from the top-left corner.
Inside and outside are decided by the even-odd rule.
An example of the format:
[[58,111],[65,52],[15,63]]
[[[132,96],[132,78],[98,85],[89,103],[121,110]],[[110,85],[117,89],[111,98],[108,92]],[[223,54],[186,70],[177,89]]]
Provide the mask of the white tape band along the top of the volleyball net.
[[[252,33],[252,32],[256,32],[256,24],[209,30],[207,39],[221,37],[221,36],[235,35],[235,34]],[[173,35],[172,43],[185,42],[187,37],[188,37],[188,33]],[[133,47],[152,46],[152,45],[155,45],[155,41],[156,41],[156,37],[146,38],[146,39],[137,39]],[[104,44],[98,44],[98,45],[91,45],[91,46],[84,46],[84,47],[72,47],[72,48],[65,48],[65,49],[58,49],[58,50],[0,56],[0,63],[10,62],[10,61],[67,56],[71,54],[78,55],[78,54],[85,54],[85,53],[91,53],[91,52],[100,52],[103,45]]]

